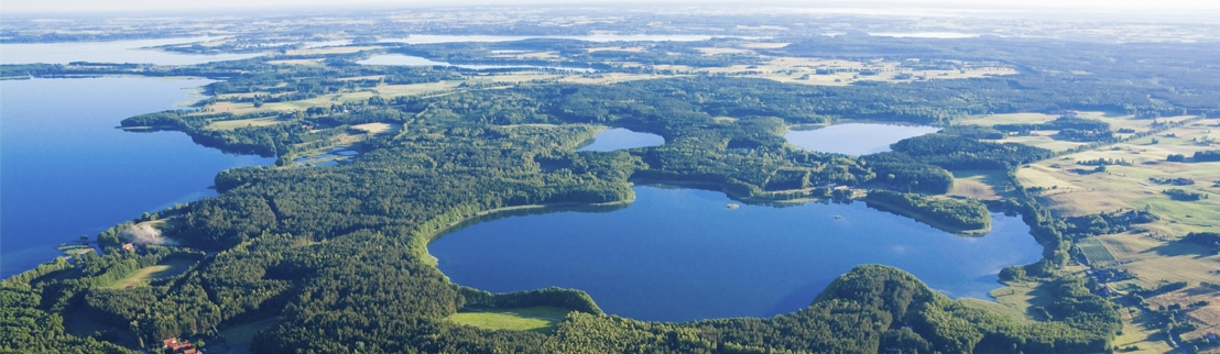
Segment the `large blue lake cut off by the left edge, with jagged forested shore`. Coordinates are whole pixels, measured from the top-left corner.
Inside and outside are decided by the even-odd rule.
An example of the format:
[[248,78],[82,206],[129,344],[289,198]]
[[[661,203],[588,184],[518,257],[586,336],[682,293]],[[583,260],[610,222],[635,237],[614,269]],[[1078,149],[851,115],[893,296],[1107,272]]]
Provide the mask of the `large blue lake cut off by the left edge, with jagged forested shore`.
[[195,101],[201,79],[0,82],[0,277],[144,212],[215,195],[217,172],[272,159],[224,154],[123,118]]

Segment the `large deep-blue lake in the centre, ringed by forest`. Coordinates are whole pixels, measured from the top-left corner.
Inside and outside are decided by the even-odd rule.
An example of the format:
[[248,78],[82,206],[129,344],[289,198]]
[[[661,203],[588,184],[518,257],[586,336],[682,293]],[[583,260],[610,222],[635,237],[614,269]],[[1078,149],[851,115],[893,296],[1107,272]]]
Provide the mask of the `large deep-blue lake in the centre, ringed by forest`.
[[987,298],[1002,268],[1042,247],[993,214],[959,237],[864,203],[741,206],[721,192],[637,186],[627,207],[482,220],[432,242],[439,269],[492,292],[571,287],[609,314],[658,321],[772,316],[859,264],[900,268],[950,297]]

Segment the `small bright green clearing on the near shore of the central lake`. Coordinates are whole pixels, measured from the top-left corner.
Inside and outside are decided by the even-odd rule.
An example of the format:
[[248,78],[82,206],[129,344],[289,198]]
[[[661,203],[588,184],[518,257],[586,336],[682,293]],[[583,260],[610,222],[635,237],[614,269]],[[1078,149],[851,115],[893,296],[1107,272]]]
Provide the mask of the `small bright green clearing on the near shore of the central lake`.
[[555,326],[564,320],[569,309],[554,307],[483,309],[481,311],[458,313],[449,320],[466,326],[487,330],[529,331],[543,335],[555,332]]

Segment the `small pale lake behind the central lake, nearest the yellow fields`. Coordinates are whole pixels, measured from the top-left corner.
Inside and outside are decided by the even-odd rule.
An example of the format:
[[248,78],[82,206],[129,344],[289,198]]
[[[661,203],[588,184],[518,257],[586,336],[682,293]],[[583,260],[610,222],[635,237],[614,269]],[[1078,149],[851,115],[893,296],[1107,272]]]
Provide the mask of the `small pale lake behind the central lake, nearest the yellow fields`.
[[863,156],[886,152],[891,144],[937,131],[941,128],[928,125],[844,123],[811,130],[792,130],[783,139],[809,151]]

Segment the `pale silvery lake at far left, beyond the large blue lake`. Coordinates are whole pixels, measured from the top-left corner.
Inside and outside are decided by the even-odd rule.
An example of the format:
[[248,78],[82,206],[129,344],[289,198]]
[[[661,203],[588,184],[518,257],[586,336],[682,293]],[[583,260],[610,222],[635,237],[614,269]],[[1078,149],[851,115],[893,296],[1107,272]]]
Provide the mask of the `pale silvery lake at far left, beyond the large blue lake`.
[[167,44],[214,40],[215,38],[171,38],[113,41],[20,43],[0,44],[0,63],[70,63],[77,61],[100,63],[154,63],[163,66],[198,64],[243,60],[257,54],[189,55],[144,49]]

